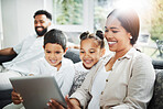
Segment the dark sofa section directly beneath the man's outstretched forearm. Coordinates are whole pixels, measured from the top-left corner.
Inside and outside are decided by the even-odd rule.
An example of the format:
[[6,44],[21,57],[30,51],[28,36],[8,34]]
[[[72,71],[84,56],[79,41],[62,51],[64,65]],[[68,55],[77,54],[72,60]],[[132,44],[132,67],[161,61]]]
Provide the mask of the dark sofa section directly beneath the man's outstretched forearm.
[[0,55],[0,65],[2,65],[2,63],[4,62],[9,62],[12,61],[18,54],[13,54],[13,55]]

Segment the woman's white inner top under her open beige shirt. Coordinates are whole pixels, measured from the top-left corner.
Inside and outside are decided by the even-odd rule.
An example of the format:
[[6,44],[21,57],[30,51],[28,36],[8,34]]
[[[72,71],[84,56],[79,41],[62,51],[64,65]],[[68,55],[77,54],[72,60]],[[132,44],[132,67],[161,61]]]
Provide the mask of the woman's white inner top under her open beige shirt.
[[99,109],[99,97],[101,91],[105,89],[106,86],[106,80],[109,76],[110,72],[106,72],[105,66],[98,70],[97,76],[93,83],[93,87],[91,87],[91,100],[88,105],[88,109]]

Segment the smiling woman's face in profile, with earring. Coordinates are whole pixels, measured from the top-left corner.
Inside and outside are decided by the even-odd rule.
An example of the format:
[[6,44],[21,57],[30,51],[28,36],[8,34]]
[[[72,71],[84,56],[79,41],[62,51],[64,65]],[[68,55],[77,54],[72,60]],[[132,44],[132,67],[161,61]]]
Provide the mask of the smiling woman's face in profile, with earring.
[[105,37],[107,39],[110,51],[121,52],[132,46],[130,44],[131,34],[121,26],[117,18],[109,17],[105,28]]

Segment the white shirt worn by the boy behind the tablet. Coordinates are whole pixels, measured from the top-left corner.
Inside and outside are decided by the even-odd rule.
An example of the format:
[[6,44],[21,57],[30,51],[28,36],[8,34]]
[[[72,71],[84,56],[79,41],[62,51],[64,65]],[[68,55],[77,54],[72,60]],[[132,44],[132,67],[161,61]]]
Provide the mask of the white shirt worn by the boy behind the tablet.
[[73,65],[74,64],[70,59],[63,57],[62,66],[59,70],[57,70],[56,67],[51,66],[43,57],[32,63],[32,69],[30,74],[54,76],[62,94],[65,97],[69,92],[73,85],[75,75]]

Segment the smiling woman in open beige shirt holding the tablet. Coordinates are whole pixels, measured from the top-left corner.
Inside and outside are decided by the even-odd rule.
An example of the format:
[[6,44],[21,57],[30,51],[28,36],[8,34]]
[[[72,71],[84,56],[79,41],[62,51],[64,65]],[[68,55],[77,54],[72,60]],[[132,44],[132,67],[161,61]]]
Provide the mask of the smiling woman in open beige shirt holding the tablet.
[[[101,58],[70,99],[69,109],[145,109],[152,98],[155,73],[151,59],[133,47],[139,17],[132,9],[113,10],[106,21],[105,37],[115,52]],[[50,108],[63,108],[51,99]]]

